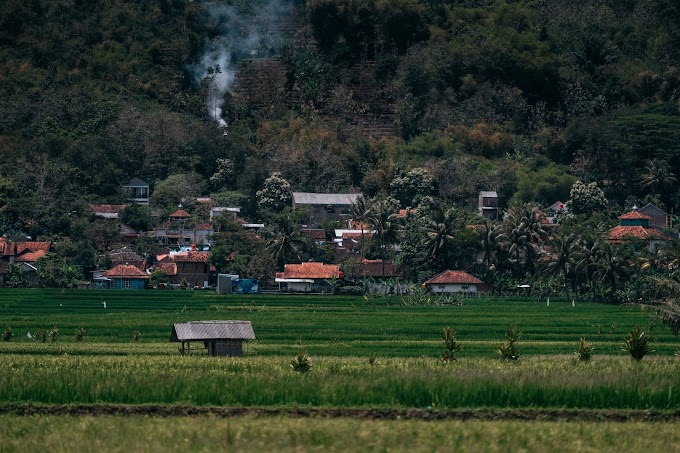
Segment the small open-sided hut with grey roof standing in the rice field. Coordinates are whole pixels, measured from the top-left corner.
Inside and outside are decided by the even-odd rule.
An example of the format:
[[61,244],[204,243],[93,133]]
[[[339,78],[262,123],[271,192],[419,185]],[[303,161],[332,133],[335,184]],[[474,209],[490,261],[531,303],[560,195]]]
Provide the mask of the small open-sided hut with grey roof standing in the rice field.
[[191,353],[191,342],[202,341],[209,356],[240,357],[243,342],[255,339],[250,321],[190,321],[172,326],[170,341],[182,343],[182,354]]

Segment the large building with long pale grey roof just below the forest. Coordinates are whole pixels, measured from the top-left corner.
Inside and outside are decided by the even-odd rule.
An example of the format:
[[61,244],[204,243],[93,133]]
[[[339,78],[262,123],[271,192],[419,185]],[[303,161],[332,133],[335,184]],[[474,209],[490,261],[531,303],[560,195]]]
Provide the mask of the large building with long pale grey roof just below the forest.
[[350,209],[361,196],[358,193],[293,192],[293,209],[307,208],[307,226],[319,226],[329,220],[347,221]]

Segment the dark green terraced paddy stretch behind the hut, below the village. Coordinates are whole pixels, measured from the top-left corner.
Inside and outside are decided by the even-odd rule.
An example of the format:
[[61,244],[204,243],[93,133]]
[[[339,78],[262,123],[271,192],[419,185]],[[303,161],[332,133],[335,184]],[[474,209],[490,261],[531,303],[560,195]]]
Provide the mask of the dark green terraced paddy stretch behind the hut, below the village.
[[[298,342],[313,355],[420,357],[439,356],[440,332],[451,326],[464,345],[462,357],[494,357],[509,325],[522,331],[522,355],[572,354],[579,338],[595,345],[594,354],[620,355],[625,335],[639,324],[648,330],[652,311],[639,306],[612,306],[552,300],[470,299],[463,306],[401,307],[368,304],[360,297],[251,295],[219,296],[202,291],[0,291],[0,327],[10,325],[14,343],[26,344],[28,332],[57,326],[60,347],[70,347],[76,329],[86,330],[85,343],[108,344],[107,354],[175,353],[168,341],[175,322],[245,319],[253,323],[255,355],[290,355]],[[101,302],[107,302],[104,309]],[[611,325],[615,331],[611,333]],[[146,350],[131,346],[132,332],[142,332]],[[656,326],[649,334],[657,356],[672,356],[678,339]],[[110,346],[115,344],[116,346]],[[53,345],[54,346],[54,345]],[[58,348],[39,353],[54,353]],[[97,353],[73,349],[73,353]]]

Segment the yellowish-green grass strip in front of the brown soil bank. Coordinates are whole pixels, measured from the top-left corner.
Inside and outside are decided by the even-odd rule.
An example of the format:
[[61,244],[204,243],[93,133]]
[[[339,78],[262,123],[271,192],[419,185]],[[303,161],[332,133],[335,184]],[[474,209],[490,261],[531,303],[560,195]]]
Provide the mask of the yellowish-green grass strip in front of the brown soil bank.
[[[672,451],[674,423],[0,416],[2,450]],[[670,450],[669,450],[670,448]]]

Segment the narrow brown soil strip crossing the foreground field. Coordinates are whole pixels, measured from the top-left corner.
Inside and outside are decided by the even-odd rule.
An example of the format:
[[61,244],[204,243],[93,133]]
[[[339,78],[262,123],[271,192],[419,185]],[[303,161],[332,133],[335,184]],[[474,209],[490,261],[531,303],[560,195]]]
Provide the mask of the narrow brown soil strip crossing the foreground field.
[[591,422],[680,421],[680,410],[594,410],[594,409],[321,409],[254,408],[183,405],[124,404],[4,404],[0,414],[71,416],[153,416],[153,417],[294,417],[354,418],[362,420],[527,420]]

